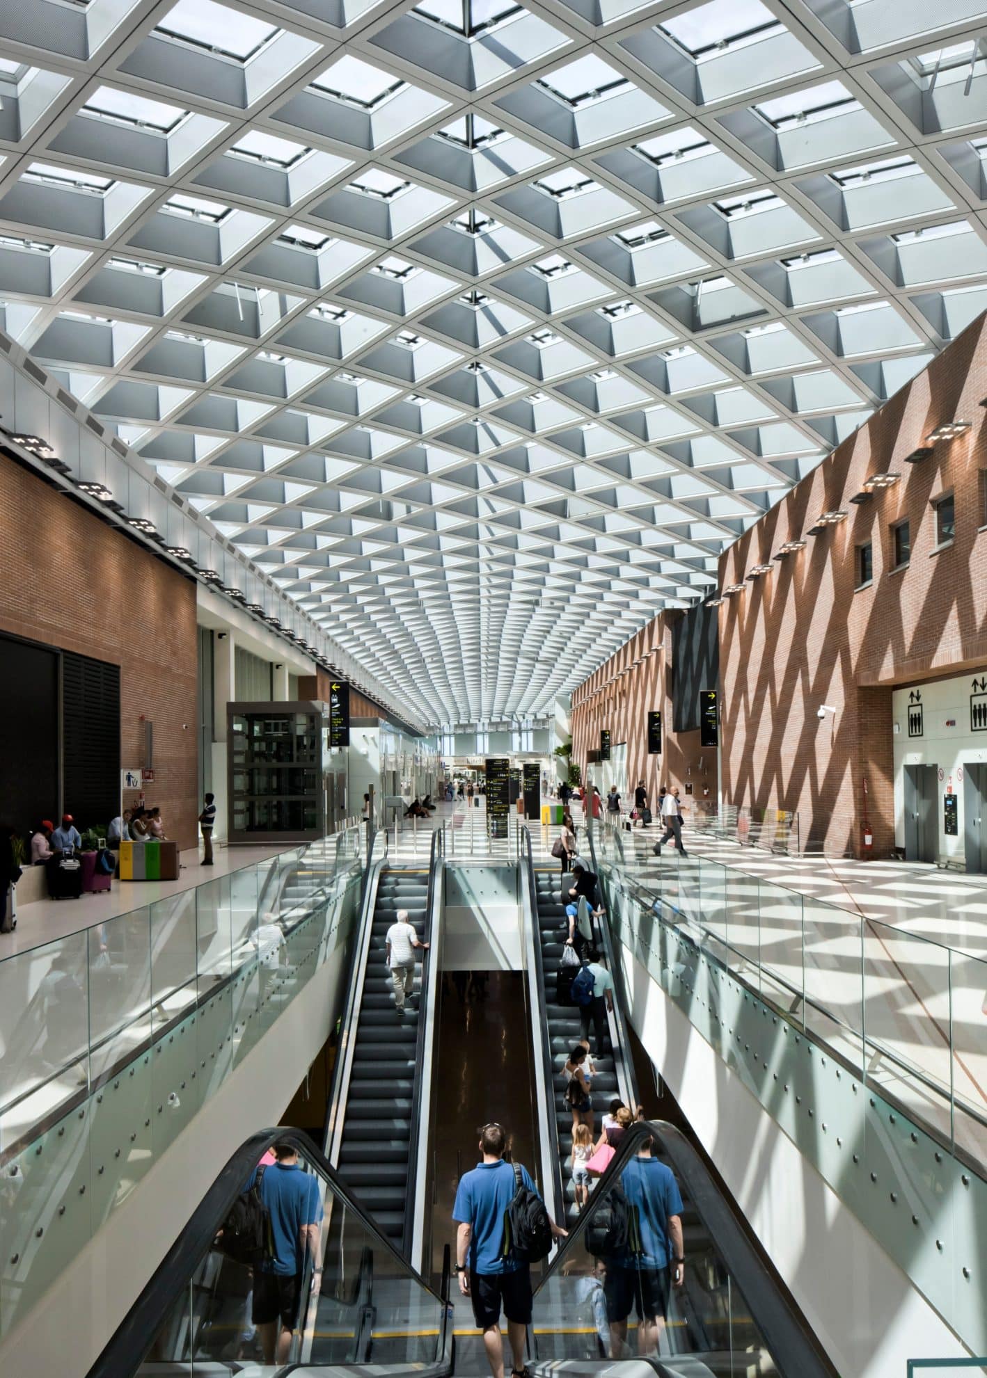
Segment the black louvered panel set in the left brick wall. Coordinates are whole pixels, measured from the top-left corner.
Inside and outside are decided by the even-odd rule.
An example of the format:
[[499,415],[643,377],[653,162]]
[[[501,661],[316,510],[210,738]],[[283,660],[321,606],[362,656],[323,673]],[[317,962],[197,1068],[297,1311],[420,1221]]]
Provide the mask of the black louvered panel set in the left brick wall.
[[81,827],[120,812],[120,667],[62,655],[65,808]]

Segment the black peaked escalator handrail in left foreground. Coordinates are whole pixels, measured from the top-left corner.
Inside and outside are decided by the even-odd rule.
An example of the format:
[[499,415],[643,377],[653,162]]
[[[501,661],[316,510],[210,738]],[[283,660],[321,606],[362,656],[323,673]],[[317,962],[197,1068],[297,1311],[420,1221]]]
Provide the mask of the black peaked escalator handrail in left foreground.
[[[397,1276],[401,1275],[401,1271],[411,1275],[440,1304],[442,1322],[437,1352],[445,1356],[451,1337],[448,1335],[445,1323],[448,1306],[442,1304],[442,1297],[433,1291],[429,1283],[398,1254],[390,1240],[380,1233],[372,1218],[357,1204],[343,1185],[336,1170],[316,1148],[312,1137],[301,1129],[278,1127],[265,1129],[252,1134],[236,1149],[226,1166],[221,1169],[216,1180],[208,1188],[189,1221],[181,1228],[175,1243],[159,1264],[150,1282],[127,1312],[127,1316],[95,1364],[90,1368],[87,1378],[134,1378],[139,1372],[143,1356],[154,1342],[161,1323],[172,1315],[182,1293],[189,1286],[189,1279],[210,1253],[216,1232],[229,1215],[234,1200],[244,1189],[244,1182],[250,1181],[251,1173],[261,1158],[274,1144],[291,1144],[296,1148],[299,1158],[317,1170],[320,1177],[329,1184],[343,1202],[346,1210],[358,1221],[361,1229],[372,1237],[375,1248],[383,1250],[389,1257],[390,1268],[394,1269]],[[444,1284],[448,1288],[447,1279],[444,1279]],[[332,1367],[342,1366],[334,1364]]]

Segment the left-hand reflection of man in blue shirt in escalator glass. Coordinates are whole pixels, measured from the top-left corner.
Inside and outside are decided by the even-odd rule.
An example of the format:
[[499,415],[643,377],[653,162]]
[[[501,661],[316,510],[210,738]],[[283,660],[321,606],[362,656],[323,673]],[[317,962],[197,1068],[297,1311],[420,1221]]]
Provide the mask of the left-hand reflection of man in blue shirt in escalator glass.
[[[287,1364],[291,1337],[302,1309],[302,1277],[306,1255],[312,1258],[312,1291],[321,1284],[323,1199],[318,1178],[303,1173],[291,1144],[274,1144],[276,1162],[263,1170],[261,1200],[270,1211],[274,1255],[254,1272],[252,1320],[265,1364]],[[251,1175],[247,1191],[256,1181]],[[278,1324],[281,1333],[278,1334]]]

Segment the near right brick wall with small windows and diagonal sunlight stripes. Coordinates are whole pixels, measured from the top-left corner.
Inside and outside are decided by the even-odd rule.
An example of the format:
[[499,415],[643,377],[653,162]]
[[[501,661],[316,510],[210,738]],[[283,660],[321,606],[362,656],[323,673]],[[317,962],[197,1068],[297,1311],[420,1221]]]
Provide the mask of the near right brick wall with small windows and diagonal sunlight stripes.
[[[859,850],[863,781],[879,853],[893,845],[891,690],[987,664],[987,325],[970,325],[925,372],[733,544],[721,587],[743,583],[720,609],[724,796],[800,814],[802,843]],[[942,422],[973,429],[919,464],[906,455]],[[855,506],[873,473],[899,482]],[[933,553],[930,500],[953,491],[957,535]],[[823,511],[849,515],[822,536]],[[892,524],[911,525],[911,559],[892,572]],[[805,550],[773,561],[779,546]],[[874,579],[856,590],[856,547],[871,542]],[[751,566],[772,573],[746,582]],[[817,718],[820,704],[835,717]]]

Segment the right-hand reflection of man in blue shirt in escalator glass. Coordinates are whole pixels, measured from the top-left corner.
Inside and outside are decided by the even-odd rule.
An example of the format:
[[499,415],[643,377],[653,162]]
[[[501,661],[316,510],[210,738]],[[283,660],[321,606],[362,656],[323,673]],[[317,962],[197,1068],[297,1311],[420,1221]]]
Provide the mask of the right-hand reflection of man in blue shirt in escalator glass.
[[637,1309],[640,1355],[658,1353],[671,1286],[682,1286],[682,1197],[670,1167],[652,1158],[645,1138],[623,1170],[620,1185],[630,1207],[630,1246],[607,1271],[611,1359],[623,1359],[627,1317]]

